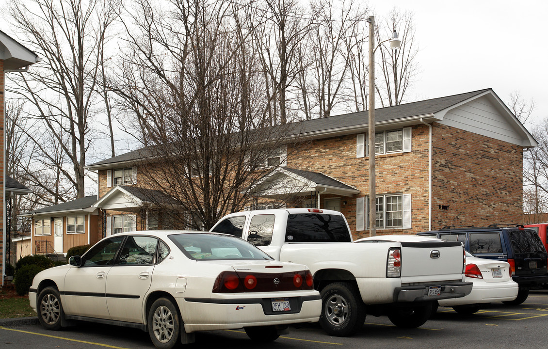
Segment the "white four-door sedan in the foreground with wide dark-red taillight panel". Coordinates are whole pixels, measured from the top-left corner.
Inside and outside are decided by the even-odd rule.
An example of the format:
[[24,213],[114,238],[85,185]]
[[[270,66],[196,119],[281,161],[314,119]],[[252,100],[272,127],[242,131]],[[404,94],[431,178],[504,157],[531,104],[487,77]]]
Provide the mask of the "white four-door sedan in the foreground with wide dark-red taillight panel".
[[148,331],[158,348],[196,331],[244,328],[272,341],[317,322],[321,298],[304,265],[273,260],[226,234],[137,231],[102,239],[68,265],[36,275],[28,292],[43,327],[72,320]]

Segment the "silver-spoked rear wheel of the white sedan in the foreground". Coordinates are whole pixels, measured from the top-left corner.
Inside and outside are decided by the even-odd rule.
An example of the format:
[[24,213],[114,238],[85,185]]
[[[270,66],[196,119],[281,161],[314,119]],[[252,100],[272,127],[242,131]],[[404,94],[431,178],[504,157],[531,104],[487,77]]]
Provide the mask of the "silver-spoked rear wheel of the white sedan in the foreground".
[[180,334],[179,312],[167,298],[158,298],[149,311],[149,335],[159,349],[172,349]]

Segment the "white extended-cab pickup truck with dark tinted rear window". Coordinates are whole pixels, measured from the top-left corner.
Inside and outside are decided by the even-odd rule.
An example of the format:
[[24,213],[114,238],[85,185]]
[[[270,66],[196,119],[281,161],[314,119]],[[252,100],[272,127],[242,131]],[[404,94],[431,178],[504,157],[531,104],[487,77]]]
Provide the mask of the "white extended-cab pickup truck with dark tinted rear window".
[[460,242],[402,235],[353,243],[338,211],[243,211],[224,216],[211,231],[246,239],[277,260],[307,265],[322,296],[319,322],[329,335],[355,333],[366,313],[387,315],[399,327],[419,327],[434,301],[472,290],[464,282]]

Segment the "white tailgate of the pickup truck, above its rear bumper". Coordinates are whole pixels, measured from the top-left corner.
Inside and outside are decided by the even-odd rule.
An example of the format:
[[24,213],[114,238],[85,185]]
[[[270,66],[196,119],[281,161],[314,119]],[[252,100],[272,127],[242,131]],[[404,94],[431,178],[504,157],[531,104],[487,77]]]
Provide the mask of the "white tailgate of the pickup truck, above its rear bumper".
[[402,242],[402,283],[463,279],[460,242]]

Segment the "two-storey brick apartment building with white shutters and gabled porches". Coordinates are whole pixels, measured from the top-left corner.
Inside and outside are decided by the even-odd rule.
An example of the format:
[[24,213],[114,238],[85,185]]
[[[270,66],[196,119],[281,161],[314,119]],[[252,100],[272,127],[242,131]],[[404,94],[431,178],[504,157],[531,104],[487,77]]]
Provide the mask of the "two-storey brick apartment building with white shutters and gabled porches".
[[[377,234],[521,221],[523,150],[537,143],[492,89],[379,108],[375,115]],[[295,148],[289,141],[295,134],[287,134],[279,166],[253,193],[275,201],[265,184],[283,179],[289,185],[279,190],[299,188],[299,205],[339,210],[355,238],[368,236],[367,111],[294,129],[310,141]],[[90,205],[99,210],[97,237],[161,227],[144,207],[151,197],[170,196],[140,186],[149,174],[136,164],[138,154],[87,166],[99,175],[98,201]]]

